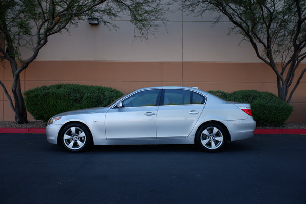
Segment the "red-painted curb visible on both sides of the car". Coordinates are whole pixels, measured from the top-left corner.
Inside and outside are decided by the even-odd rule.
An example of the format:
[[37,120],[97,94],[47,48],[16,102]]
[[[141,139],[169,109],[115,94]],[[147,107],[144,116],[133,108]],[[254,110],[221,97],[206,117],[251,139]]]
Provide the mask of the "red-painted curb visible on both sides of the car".
[[[45,134],[45,128],[0,128],[0,133]],[[306,134],[306,129],[255,129],[254,134]]]

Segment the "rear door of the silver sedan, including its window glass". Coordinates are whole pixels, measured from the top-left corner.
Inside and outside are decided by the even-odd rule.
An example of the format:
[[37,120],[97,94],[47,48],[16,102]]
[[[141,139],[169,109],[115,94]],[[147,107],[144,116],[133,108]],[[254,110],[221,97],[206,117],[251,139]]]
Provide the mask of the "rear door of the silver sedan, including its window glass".
[[204,108],[205,97],[184,89],[164,89],[156,118],[157,138],[186,137]]

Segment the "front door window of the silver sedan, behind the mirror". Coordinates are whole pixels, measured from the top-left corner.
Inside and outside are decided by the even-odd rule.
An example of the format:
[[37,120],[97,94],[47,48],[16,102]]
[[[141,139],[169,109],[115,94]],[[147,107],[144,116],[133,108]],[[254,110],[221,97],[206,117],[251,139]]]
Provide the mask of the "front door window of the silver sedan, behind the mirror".
[[141,91],[122,101],[123,107],[155,106],[159,89]]

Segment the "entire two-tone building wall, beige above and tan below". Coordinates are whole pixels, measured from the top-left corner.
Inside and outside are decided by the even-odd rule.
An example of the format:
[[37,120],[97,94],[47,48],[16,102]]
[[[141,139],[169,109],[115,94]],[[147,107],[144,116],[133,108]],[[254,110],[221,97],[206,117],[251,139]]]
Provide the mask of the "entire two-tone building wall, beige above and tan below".
[[[148,41],[135,40],[128,18],[113,21],[109,30],[87,21],[68,33],[49,38],[37,59],[22,72],[22,90],[56,83],[79,83],[116,88],[128,93],[147,86],[197,86],[202,90],[256,89],[277,94],[272,70],[255,56],[237,35],[228,36],[231,24],[212,27],[214,16],[194,18],[182,12],[169,14],[166,27]],[[30,56],[22,50],[23,58]],[[12,73],[5,62],[0,80],[10,89]],[[303,64],[301,66],[306,66]],[[306,79],[296,90],[288,121],[306,121]],[[10,91],[10,90],[9,90]],[[33,119],[31,115],[28,119]],[[14,120],[0,89],[0,120]]]

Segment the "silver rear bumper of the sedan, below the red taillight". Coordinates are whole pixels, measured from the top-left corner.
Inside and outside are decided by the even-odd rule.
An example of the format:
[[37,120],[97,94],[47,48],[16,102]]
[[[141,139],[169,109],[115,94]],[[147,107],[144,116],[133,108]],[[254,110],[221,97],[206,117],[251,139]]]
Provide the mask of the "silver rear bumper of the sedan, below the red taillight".
[[253,117],[245,120],[223,121],[230,131],[231,141],[243,140],[254,136],[256,122]]

